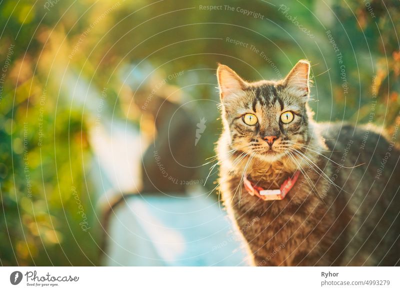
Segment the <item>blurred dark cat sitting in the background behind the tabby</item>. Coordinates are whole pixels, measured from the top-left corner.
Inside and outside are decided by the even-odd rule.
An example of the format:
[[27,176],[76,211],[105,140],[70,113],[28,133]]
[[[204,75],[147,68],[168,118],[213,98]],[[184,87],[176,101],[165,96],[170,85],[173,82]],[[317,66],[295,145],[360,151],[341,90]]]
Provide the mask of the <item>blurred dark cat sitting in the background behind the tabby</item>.
[[[153,94],[151,102],[145,103],[149,92],[146,89],[136,90],[133,99],[137,108],[152,116],[154,120],[154,128],[150,128],[150,134],[155,135],[155,139],[144,151],[140,164],[141,186],[139,190],[132,192],[111,191],[98,201],[102,230],[99,254],[102,259],[106,259],[109,251],[107,244],[110,242],[110,219],[119,208],[126,206],[135,196],[163,193],[184,195],[185,183],[179,181],[190,181],[195,173],[194,165],[197,160],[190,145],[195,140],[195,132],[192,129],[196,124],[190,112],[178,102],[169,100],[167,97],[170,94],[166,94],[166,90]],[[137,147],[139,148],[139,145]],[[179,161],[185,161],[185,164]]]

